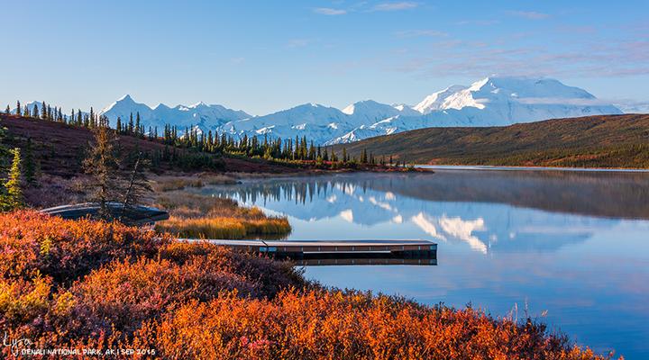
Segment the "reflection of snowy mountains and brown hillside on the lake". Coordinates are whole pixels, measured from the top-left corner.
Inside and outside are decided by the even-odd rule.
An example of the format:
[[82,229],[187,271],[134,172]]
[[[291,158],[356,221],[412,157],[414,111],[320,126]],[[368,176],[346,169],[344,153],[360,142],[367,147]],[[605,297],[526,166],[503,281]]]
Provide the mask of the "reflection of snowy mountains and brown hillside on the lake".
[[[649,219],[647,174],[479,173],[279,178],[202,192],[312,223],[334,218],[366,227],[407,222],[421,230],[417,238],[463,241],[484,254],[493,249],[552,251],[583,241],[621,219]],[[368,238],[372,232],[352,230],[344,238]],[[378,236],[403,238],[395,230]],[[340,239],[322,229],[309,234],[294,229],[291,238]]]

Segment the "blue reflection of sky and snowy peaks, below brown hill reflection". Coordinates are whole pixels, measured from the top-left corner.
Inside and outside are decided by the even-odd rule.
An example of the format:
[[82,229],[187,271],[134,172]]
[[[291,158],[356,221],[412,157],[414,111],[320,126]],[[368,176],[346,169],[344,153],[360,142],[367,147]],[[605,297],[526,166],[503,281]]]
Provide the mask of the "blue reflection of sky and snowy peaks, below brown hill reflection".
[[326,189],[322,177],[318,186],[311,181],[203,191],[286,214],[293,227],[289,239],[425,238],[439,244],[438,266],[306,268],[322,284],[430,304],[472,302],[496,316],[507,316],[515,304],[523,316],[527,304],[533,316],[547,311],[547,322],[581,344],[616,348],[627,358],[649,356],[649,221],[423,200],[400,194],[398,179],[380,191],[354,184],[353,176],[324,182]]

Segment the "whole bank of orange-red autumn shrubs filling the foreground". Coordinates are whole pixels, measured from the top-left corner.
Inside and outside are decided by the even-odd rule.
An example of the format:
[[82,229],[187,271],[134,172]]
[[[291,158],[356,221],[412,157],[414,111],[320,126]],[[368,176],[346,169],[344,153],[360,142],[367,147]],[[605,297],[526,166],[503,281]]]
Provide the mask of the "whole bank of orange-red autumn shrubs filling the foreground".
[[207,243],[33,211],[0,215],[0,227],[0,329],[32,347],[170,359],[599,358],[532,320],[326,290],[287,263]]

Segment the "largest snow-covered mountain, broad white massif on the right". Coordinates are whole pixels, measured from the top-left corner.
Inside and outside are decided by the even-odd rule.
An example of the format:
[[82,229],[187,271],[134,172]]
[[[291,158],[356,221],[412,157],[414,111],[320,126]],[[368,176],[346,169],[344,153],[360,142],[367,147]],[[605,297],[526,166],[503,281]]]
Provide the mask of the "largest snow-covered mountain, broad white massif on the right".
[[557,118],[622,113],[579,87],[558,80],[487,77],[469,87],[451,86],[415,106],[420,116],[395,116],[330,140],[346,143],[400,131],[451,126],[505,126]]

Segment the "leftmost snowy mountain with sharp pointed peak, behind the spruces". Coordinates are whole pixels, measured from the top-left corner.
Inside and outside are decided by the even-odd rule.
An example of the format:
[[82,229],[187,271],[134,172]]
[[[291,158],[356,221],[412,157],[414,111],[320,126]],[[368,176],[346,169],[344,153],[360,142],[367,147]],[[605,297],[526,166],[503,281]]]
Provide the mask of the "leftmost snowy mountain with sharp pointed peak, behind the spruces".
[[222,105],[208,105],[203,102],[175,107],[160,103],[151,109],[144,103],[136,103],[128,94],[106,106],[99,114],[105,115],[114,124],[118,117],[122,118],[124,123],[129,121],[132,113],[135,117],[138,112],[145,127],[157,126],[160,130],[168,123],[178,126],[179,130],[191,126],[201,130],[216,130],[229,121],[251,117],[246,112],[228,109]]

